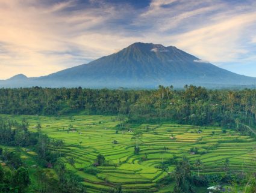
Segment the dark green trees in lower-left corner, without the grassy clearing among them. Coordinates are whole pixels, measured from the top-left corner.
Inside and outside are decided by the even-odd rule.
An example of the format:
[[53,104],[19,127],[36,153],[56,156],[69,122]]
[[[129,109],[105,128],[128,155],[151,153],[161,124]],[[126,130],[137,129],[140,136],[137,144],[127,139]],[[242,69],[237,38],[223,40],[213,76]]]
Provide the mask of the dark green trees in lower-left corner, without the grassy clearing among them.
[[[33,147],[37,152],[37,163],[43,168],[56,168],[59,180],[50,176],[48,170],[37,168],[37,180],[40,187],[37,192],[85,192],[80,185],[81,179],[72,171],[66,170],[63,163],[58,160],[63,141],[50,140],[41,132],[40,124],[37,132],[28,131],[25,119],[21,123],[0,117],[0,144],[14,147]],[[0,147],[0,161],[8,165],[10,170],[5,171],[0,165],[0,192],[26,192],[30,184],[28,169],[23,167],[20,153]],[[55,164],[56,163],[56,164]],[[56,181],[56,182],[54,182]],[[52,183],[55,183],[52,185]],[[57,187],[56,187],[57,183]]]

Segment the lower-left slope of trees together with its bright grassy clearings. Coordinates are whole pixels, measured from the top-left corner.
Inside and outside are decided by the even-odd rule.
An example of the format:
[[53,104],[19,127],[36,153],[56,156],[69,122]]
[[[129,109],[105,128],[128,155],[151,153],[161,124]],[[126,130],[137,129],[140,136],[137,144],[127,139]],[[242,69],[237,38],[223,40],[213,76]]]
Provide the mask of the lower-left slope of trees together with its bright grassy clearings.
[[[63,141],[42,134],[39,124],[34,127],[36,132],[28,131],[25,119],[19,123],[1,118],[0,125],[0,141],[5,144],[0,147],[0,192],[85,192],[83,179],[66,167],[61,173],[57,170],[63,164],[58,151]],[[73,166],[75,160],[70,158],[69,163]]]

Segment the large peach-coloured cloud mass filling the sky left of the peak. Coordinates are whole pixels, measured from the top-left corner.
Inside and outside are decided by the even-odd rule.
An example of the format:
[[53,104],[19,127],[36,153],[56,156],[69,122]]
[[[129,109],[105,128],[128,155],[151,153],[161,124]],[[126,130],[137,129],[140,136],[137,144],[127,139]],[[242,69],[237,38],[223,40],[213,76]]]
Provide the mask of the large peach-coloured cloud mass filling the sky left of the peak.
[[[116,14],[111,5],[66,12],[63,10],[78,6],[77,2],[42,5],[36,0],[0,0],[0,3],[1,79],[17,73],[50,74],[116,49],[113,37],[96,32],[98,26]],[[106,41],[109,38],[111,43]]]

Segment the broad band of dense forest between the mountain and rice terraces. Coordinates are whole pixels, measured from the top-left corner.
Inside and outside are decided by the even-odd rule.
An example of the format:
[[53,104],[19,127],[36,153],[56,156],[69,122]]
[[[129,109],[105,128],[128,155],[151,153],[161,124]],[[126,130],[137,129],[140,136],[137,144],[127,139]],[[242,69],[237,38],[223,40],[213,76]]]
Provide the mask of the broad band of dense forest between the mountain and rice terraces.
[[[193,125],[216,124],[248,131],[256,122],[256,90],[207,90],[172,86],[158,90],[123,89],[0,89],[0,113],[7,114],[125,114],[130,120],[175,120]],[[243,125],[245,124],[245,125]]]

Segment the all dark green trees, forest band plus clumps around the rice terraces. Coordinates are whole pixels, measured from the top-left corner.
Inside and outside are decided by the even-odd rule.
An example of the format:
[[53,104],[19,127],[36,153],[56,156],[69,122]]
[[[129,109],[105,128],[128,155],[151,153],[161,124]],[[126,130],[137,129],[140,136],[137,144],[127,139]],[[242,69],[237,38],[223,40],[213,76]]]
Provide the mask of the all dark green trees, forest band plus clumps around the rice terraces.
[[[128,117],[128,123],[138,122],[173,122],[187,123],[192,125],[216,125],[223,126],[222,133],[226,128],[236,128],[242,134],[255,133],[256,125],[256,90],[245,89],[243,91],[216,90],[211,91],[196,86],[185,86],[184,90],[175,91],[172,86],[159,86],[158,90],[151,91],[126,91],[119,90],[93,90],[93,89],[48,89],[48,88],[20,88],[0,89],[0,113],[2,114],[32,114],[32,115],[61,115],[72,113],[83,114],[118,114]],[[122,116],[120,116],[122,117]],[[124,120],[124,119],[123,119]],[[101,124],[99,122],[99,124]],[[125,128],[126,124],[120,123],[119,128]],[[68,170],[60,161],[61,153],[58,152],[64,144],[61,140],[52,140],[42,134],[41,126],[36,126],[37,132],[28,131],[28,123],[4,120],[0,117],[0,144],[6,146],[28,147],[38,154],[38,163],[43,167],[55,168],[58,176],[58,189],[55,192],[85,192],[81,185],[80,177],[73,173],[75,158],[68,159],[71,170]],[[119,130],[116,130],[118,134]],[[198,132],[201,132],[198,130]],[[134,131],[134,138],[140,135]],[[214,131],[213,131],[214,135]],[[175,137],[173,137],[175,140]],[[114,140],[113,144],[119,141]],[[166,147],[164,147],[166,150]],[[134,154],[139,155],[140,147],[134,146]],[[190,153],[202,154],[197,147],[192,147]],[[27,168],[23,167],[20,155],[0,149],[1,160],[8,164],[11,172],[8,173],[0,167],[0,192],[10,192],[12,188],[22,192],[30,183]],[[147,159],[147,155],[142,159]],[[105,158],[98,155],[94,166],[84,168],[85,173],[97,174],[95,166],[104,165]],[[225,160],[223,171],[225,175],[199,175],[202,167],[200,159],[190,165],[189,159],[184,157],[179,161],[170,158],[162,161],[157,168],[166,170],[168,165],[175,164],[173,182],[175,192],[193,192],[193,185],[208,186],[211,182],[239,182],[241,174],[229,173],[229,161]],[[192,173],[190,169],[198,171]],[[44,186],[40,192],[49,192],[49,177],[46,170],[38,171],[38,179]],[[244,177],[244,176],[243,176]],[[16,179],[16,180],[14,180]],[[253,178],[254,180],[254,178]],[[248,181],[249,182],[249,181]],[[252,189],[255,181],[250,182]],[[118,189],[116,192],[122,192]],[[253,191],[253,190],[252,190]]]

